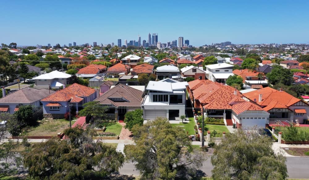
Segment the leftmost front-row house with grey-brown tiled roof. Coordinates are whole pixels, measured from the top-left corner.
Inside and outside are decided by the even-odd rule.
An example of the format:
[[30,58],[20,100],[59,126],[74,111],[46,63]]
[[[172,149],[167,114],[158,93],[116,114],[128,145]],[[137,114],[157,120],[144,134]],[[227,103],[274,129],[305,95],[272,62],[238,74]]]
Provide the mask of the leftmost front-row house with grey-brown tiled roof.
[[14,114],[21,106],[32,105],[40,107],[42,106],[40,100],[54,93],[55,91],[53,90],[25,87],[11,94],[4,94],[5,96],[0,99],[0,112]]

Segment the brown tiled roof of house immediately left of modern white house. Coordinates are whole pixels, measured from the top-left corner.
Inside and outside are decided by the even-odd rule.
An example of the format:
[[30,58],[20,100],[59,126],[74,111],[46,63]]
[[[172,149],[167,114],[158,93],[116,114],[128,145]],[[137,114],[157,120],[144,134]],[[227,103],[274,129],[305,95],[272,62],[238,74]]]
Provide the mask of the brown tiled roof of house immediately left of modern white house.
[[[140,90],[123,84],[117,84],[94,101],[99,101],[99,104],[111,104],[115,107],[140,107],[143,100],[142,96],[143,92]],[[113,101],[111,98],[124,98],[127,101]]]

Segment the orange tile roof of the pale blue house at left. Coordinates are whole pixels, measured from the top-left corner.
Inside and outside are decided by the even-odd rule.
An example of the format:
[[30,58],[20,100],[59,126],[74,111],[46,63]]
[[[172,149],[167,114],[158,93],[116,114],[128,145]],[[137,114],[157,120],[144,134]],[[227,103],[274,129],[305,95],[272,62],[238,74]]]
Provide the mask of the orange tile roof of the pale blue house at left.
[[41,101],[66,102],[69,100],[74,100],[74,102],[80,102],[83,100],[83,98],[80,97],[88,97],[93,93],[95,93],[94,89],[74,83],[65,89],[58,90],[56,93],[42,99]]

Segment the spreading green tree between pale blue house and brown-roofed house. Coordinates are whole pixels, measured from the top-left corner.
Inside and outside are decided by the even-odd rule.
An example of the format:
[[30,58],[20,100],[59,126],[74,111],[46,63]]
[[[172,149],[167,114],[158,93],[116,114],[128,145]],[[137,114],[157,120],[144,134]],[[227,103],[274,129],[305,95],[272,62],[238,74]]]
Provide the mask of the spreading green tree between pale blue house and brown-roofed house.
[[78,112],[81,116],[92,116],[94,119],[104,119],[107,107],[98,104],[98,101],[91,101],[83,104],[83,109]]

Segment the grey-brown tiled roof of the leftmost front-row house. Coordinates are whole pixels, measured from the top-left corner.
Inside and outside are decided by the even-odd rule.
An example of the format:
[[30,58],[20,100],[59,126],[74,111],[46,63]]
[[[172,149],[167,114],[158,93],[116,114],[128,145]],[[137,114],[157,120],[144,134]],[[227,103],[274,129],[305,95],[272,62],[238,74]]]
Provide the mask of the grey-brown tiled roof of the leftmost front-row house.
[[55,91],[48,89],[34,89],[31,87],[25,87],[17,90],[14,93],[8,94],[0,99],[0,103],[34,103],[39,101],[50,94],[54,94]]

